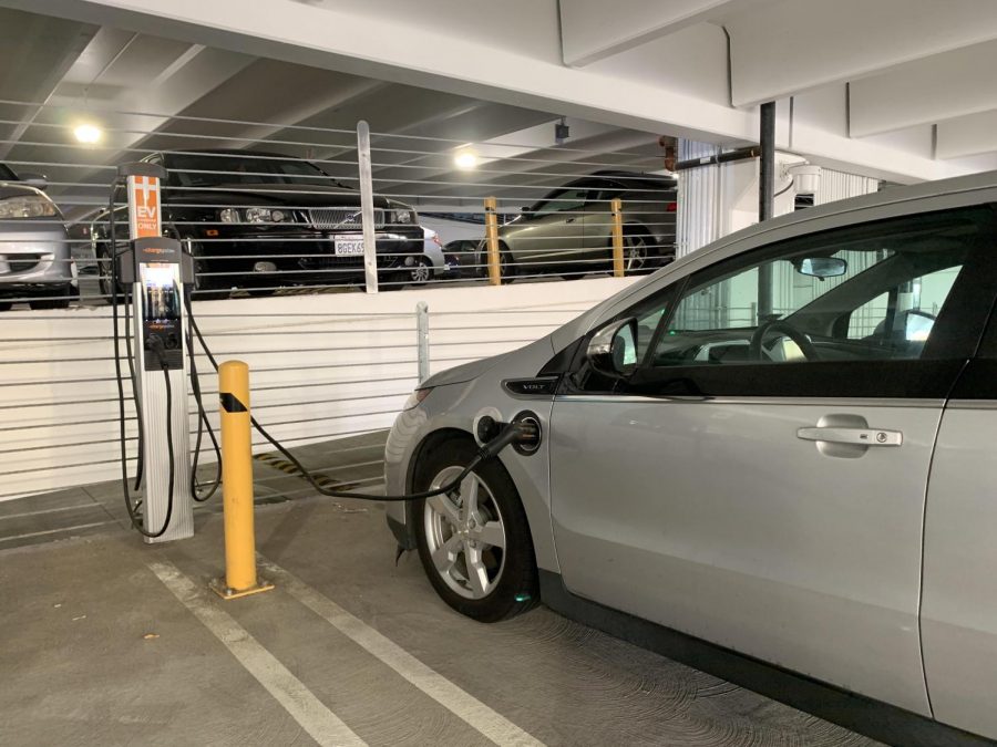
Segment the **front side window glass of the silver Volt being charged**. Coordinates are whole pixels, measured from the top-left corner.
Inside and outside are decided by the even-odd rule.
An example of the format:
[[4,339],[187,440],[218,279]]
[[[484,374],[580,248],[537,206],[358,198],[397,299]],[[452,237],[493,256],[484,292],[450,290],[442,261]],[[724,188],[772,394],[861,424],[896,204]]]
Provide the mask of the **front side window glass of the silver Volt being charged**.
[[695,276],[652,366],[919,357],[977,231],[828,232]]

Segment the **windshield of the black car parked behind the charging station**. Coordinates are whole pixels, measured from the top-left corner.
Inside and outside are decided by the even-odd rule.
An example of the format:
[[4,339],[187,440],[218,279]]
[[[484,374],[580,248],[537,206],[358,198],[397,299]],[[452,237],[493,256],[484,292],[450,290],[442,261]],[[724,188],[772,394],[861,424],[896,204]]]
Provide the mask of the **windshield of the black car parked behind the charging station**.
[[176,187],[290,184],[348,188],[307,160],[236,154],[172,154],[166,159]]

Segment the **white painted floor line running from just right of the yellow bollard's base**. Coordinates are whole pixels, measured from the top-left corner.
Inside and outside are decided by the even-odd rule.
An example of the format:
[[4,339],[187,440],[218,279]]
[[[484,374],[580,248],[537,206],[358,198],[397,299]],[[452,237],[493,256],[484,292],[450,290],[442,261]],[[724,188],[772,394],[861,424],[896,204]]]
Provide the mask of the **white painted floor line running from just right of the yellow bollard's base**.
[[328,596],[319,593],[289,571],[258,556],[260,568],[286,593],[323,618],[340,633],[373,654],[412,685],[459,716],[497,745],[543,743],[524,732],[473,695],[465,693],[435,670],[430,668],[404,649],[389,640],[359,618],[353,616]]

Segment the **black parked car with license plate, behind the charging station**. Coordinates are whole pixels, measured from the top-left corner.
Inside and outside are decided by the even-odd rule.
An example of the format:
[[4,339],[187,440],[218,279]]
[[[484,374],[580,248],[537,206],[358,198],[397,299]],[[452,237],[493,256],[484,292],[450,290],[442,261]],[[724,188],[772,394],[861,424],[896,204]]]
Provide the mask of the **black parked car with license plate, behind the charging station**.
[[[195,257],[195,294],[227,295],[233,288],[359,282],[363,241],[359,193],[315,164],[254,151],[155,153],[165,166],[163,232]],[[123,198],[122,198],[123,199]],[[126,207],[119,215],[123,239]],[[106,210],[91,229],[110,293]],[[378,277],[386,288],[409,277],[405,262],[422,255],[415,211],[374,196]]]

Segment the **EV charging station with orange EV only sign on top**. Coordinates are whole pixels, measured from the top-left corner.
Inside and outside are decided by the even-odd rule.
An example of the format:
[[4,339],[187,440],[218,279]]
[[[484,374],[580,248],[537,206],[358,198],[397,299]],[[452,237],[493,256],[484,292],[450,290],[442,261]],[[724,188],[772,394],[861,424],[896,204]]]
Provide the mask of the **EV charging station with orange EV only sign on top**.
[[160,181],[166,170],[154,164],[124,164],[119,168],[122,177],[127,185],[129,246],[115,261],[121,284],[131,286],[143,535],[146,542],[165,542],[194,535],[184,304],[193,262],[179,241],[162,236]]

